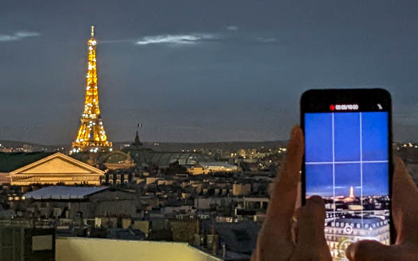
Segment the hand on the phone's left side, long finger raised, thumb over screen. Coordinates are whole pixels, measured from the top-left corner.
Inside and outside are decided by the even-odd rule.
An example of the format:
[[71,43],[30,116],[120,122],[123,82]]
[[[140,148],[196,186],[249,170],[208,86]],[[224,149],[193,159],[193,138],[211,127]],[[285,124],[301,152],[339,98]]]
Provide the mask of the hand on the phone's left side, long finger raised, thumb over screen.
[[295,213],[297,185],[304,153],[304,137],[299,126],[293,127],[280,180],[274,191],[263,227],[258,233],[256,250],[251,261],[330,261],[325,241],[325,205],[313,196],[300,208],[297,218],[297,242],[292,238],[292,217]]

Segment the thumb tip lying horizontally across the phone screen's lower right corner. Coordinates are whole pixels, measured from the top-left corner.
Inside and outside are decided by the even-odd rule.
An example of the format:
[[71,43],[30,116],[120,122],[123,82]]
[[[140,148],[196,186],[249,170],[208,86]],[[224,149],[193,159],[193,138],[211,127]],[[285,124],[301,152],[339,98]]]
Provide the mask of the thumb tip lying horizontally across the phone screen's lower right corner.
[[363,240],[350,244],[346,256],[350,261],[393,261],[403,259],[398,246],[386,246],[374,240]]

